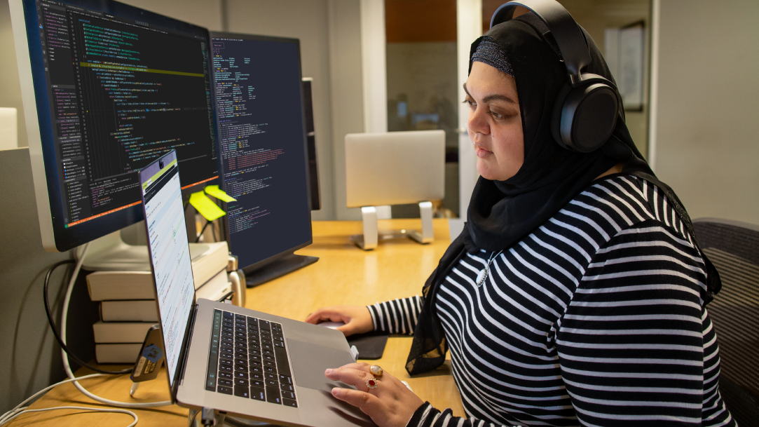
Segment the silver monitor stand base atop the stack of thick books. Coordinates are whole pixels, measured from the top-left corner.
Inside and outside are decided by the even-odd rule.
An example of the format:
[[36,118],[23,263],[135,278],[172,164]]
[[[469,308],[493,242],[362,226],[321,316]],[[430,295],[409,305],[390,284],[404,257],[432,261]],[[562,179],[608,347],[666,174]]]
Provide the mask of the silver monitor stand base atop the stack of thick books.
[[[209,249],[203,243],[190,244],[190,258]],[[83,245],[74,249],[74,255],[81,258]],[[121,231],[115,231],[90,242],[82,268],[90,271],[150,271],[150,255],[146,245],[128,245],[121,239]]]

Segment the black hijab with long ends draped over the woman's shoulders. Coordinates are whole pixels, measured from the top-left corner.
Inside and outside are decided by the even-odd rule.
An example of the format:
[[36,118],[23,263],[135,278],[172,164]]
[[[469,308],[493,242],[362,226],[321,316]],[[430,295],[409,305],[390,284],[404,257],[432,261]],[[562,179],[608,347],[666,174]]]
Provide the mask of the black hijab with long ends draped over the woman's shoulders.
[[[584,30],[583,33],[592,59],[584,72],[614,81],[593,39]],[[624,114],[620,113],[612,135],[599,150],[576,153],[559,147],[551,134],[551,115],[554,100],[568,76],[546,25],[533,13],[498,24],[472,43],[470,58],[483,41],[488,42],[487,49],[496,43],[504,54],[502,58],[508,62],[496,60],[490,65],[515,77],[524,133],[524,163],[515,176],[505,181],[482,177],[477,181],[469,203],[468,223],[424,284],[424,305],[406,362],[408,373],[427,372],[445,362],[448,346],[434,309],[435,296],[439,284],[465,253],[474,253],[480,248],[488,251],[510,248],[617,163],[624,165],[623,173],[656,185],[669,199],[704,258],[707,292],[702,292],[701,298],[704,303],[710,302],[722,286],[720,276],[698,246],[691,219],[679,198],[657,179],[635,147]]]

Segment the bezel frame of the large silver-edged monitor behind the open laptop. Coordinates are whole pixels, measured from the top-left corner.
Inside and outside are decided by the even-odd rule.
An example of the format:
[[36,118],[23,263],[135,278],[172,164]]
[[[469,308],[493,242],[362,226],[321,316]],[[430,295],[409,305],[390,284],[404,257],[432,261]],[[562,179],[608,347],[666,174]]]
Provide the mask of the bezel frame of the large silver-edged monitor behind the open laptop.
[[[198,36],[208,48],[206,57],[209,66],[209,77],[213,74],[210,64],[213,60],[210,49],[208,30],[197,25],[188,24],[171,17],[156,14],[151,11],[136,8],[113,0],[56,0],[74,7],[87,8],[104,14],[113,14],[126,19],[140,20],[149,25],[163,27],[168,30]],[[19,7],[20,6],[20,7]],[[55,154],[55,139],[53,136],[52,117],[50,115],[43,62],[43,49],[39,37],[39,20],[36,14],[36,0],[10,0],[11,20],[14,26],[14,39],[20,74],[22,96],[24,99],[24,115],[27,118],[27,134],[29,135],[29,150],[33,170],[34,187],[37,201],[40,232],[43,248],[46,251],[68,251],[84,243],[91,242],[109,233],[116,232],[125,226],[143,220],[141,202],[131,207],[124,207],[116,212],[87,220],[77,226],[66,227],[63,221],[64,206],[58,179],[58,165]],[[212,106],[216,99],[211,93]],[[213,110],[213,138],[218,141],[216,109]],[[31,119],[34,118],[34,119]],[[218,153],[218,150],[217,150]],[[220,167],[217,157],[217,167]],[[217,169],[219,170],[219,169]],[[219,175],[209,181],[198,182],[183,188],[182,195],[197,191],[200,186],[220,184]]]

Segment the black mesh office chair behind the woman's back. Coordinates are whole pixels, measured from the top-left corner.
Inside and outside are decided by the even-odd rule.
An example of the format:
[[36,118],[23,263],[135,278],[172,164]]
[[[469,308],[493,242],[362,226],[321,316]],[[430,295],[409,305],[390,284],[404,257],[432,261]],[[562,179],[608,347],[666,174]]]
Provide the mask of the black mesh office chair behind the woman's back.
[[722,278],[707,305],[720,343],[720,393],[741,427],[759,427],[759,226],[701,218],[693,228]]

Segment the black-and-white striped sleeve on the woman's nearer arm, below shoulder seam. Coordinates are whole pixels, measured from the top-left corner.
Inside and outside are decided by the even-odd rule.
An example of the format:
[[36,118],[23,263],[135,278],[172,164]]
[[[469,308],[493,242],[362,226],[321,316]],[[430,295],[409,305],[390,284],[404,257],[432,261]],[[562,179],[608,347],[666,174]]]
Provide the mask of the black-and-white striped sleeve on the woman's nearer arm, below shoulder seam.
[[[597,251],[556,331],[581,425],[701,425],[719,400],[719,369],[705,357],[716,341],[706,342],[704,282],[698,251],[656,220],[622,229]],[[710,413],[710,425],[731,422],[721,402]]]

